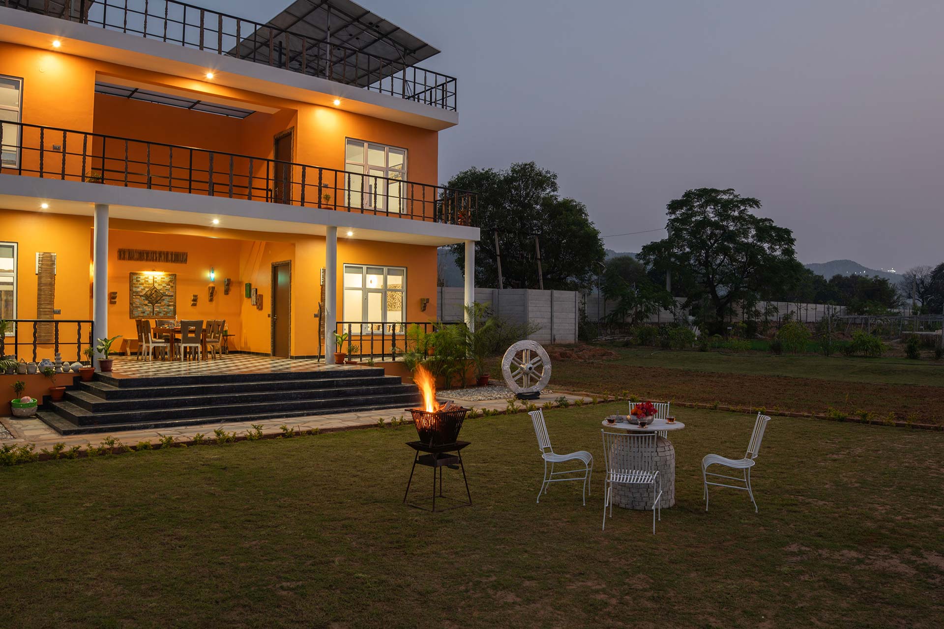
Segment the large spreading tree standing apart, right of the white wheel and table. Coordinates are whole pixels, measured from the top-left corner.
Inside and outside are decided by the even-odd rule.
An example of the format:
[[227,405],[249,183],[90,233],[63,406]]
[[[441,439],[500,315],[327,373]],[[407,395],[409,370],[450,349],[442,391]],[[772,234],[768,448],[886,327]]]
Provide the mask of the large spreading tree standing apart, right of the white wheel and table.
[[642,248],[640,259],[669,271],[685,306],[708,299],[722,320],[736,302],[795,286],[802,265],[793,233],[751,210],[761,202],[734,190],[687,190],[666,205],[668,237]]

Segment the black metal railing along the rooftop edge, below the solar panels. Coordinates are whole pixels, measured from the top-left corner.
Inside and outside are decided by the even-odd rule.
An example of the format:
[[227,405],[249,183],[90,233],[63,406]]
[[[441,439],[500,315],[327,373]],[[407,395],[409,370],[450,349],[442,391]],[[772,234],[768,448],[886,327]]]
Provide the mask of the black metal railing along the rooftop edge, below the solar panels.
[[453,76],[175,0],[0,0],[0,7],[175,43],[456,110]]

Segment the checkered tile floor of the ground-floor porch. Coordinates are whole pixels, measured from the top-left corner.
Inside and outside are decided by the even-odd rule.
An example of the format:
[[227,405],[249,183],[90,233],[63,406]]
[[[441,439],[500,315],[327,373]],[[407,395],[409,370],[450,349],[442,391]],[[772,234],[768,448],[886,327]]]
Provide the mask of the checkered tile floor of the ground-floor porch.
[[115,378],[211,375],[221,373],[314,372],[361,369],[358,365],[326,365],[307,358],[276,358],[248,354],[225,354],[213,360],[137,360],[115,356],[111,375]]

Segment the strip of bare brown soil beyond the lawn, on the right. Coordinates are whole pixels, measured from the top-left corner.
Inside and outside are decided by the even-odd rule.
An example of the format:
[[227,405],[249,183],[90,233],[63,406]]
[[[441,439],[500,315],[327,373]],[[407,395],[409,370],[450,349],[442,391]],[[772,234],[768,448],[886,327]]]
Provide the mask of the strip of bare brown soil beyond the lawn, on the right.
[[694,372],[613,361],[558,361],[554,384],[558,389],[598,391],[598,395],[632,388],[633,395],[646,400],[944,426],[944,386]]

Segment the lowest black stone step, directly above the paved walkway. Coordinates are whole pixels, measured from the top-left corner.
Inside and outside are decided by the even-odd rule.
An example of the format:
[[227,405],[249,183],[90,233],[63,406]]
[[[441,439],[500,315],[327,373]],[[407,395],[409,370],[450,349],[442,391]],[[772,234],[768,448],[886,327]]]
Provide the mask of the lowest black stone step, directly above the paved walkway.
[[[93,424],[93,425],[77,425],[74,422],[69,422],[68,420],[60,417],[55,412],[41,410],[36,416],[45,422],[50,428],[55,430],[59,435],[91,435],[95,433],[119,433],[125,430],[154,430],[157,428],[176,428],[182,426],[194,426],[194,425],[203,425],[209,424],[208,428],[211,428],[212,425],[236,423],[236,422],[258,422],[260,420],[274,420],[274,419],[290,419],[297,417],[309,417],[316,415],[329,415],[331,413],[337,412],[366,412],[371,410],[384,410],[389,408],[404,408],[405,406],[410,406],[419,403],[419,396],[413,394],[411,396],[404,396],[403,399],[396,398],[385,400],[377,404],[366,404],[362,406],[349,406],[346,408],[324,408],[324,409],[313,409],[313,410],[304,410],[304,411],[272,411],[270,413],[259,415],[259,414],[245,414],[245,415],[218,415],[212,417],[202,417],[202,418],[188,418],[188,419],[155,419],[147,422],[129,422],[129,423],[109,423],[109,424]],[[212,439],[212,434],[207,435],[209,439]],[[133,444],[130,444],[133,445]]]

